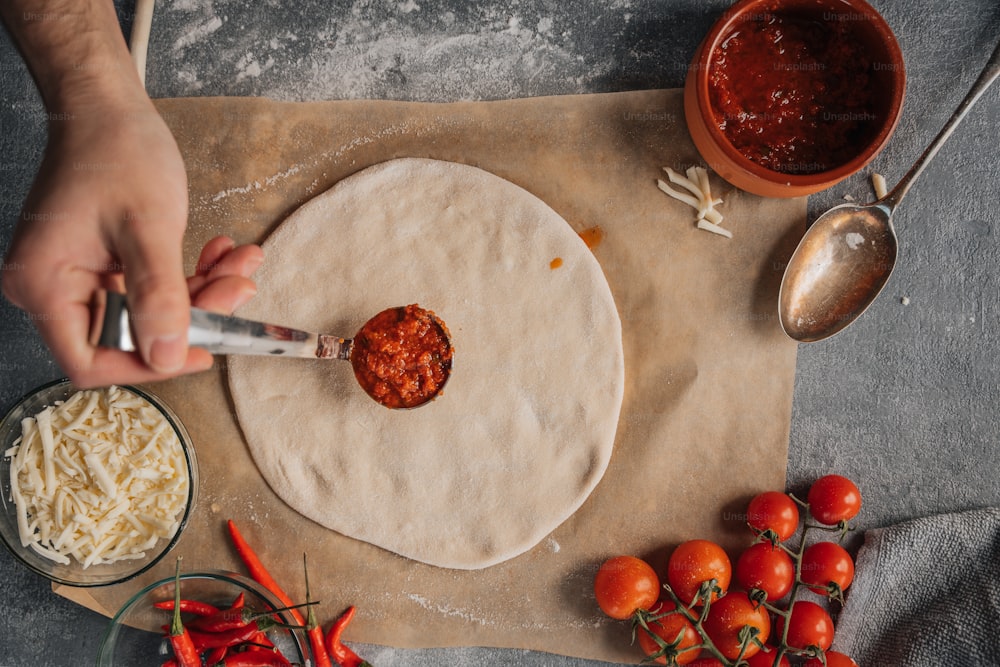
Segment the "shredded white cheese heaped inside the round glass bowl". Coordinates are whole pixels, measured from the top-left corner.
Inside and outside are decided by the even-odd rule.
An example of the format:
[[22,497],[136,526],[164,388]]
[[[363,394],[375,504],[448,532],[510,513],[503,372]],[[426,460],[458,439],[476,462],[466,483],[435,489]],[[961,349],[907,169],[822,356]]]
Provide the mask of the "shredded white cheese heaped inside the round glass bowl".
[[23,419],[3,455],[21,544],[49,560],[143,558],[180,526],[190,480],[177,433],[120,387],[78,391]]

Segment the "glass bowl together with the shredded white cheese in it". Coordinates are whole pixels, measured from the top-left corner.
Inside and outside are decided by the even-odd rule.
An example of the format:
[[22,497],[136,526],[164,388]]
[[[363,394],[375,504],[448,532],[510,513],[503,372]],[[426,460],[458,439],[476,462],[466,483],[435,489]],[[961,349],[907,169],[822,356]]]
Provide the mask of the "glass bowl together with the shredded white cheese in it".
[[103,586],[146,571],[194,507],[188,433],[137,387],[40,387],[0,421],[0,448],[0,534],[21,562],[58,583]]

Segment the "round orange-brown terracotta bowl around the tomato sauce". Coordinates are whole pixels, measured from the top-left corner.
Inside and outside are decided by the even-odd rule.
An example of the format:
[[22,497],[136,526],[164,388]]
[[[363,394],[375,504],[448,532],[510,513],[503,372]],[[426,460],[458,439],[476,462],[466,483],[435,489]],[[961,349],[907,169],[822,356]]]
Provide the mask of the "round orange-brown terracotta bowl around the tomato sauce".
[[[737,148],[727,136],[725,129],[720,127],[720,123],[729,124],[728,129],[733,132],[739,128],[733,127],[732,124],[745,122],[744,115],[723,114],[717,108],[716,101],[720,97],[717,91],[713,92],[715,85],[713,68],[720,66],[718,63],[723,55],[728,59],[726,66],[735,68],[734,72],[755,68],[759,76],[770,77],[771,85],[776,88],[785,86],[786,89],[790,88],[789,81],[793,75],[799,77],[798,81],[807,78],[803,78],[805,75],[802,71],[792,70],[811,68],[815,70],[816,76],[831,77],[834,76],[832,73],[840,71],[842,66],[852,68],[859,61],[857,58],[845,57],[844,62],[825,62],[822,58],[814,62],[777,60],[765,62],[747,58],[747,62],[740,62],[736,57],[737,54],[726,51],[730,47],[727,40],[734,34],[747,33],[755,25],[762,25],[762,22],[773,23],[776,17],[778,21],[810,25],[812,29],[841,31],[854,41],[856,48],[868,61],[863,71],[853,71],[854,76],[866,82],[861,89],[869,96],[869,106],[863,114],[837,111],[844,108],[844,100],[838,97],[843,96],[841,93],[827,96],[817,93],[815,102],[819,104],[819,111],[816,112],[816,107],[813,107],[814,118],[833,122],[841,120],[851,122],[860,119],[863,122],[856,123],[854,127],[861,129],[852,130],[854,134],[849,140],[839,136],[843,128],[800,133],[807,135],[800,138],[807,141],[833,143],[834,139],[831,137],[835,134],[838,139],[844,139],[836,144],[839,146],[840,158],[833,164],[809,162],[805,166],[812,167],[811,169],[799,168],[800,165],[793,163],[789,163],[788,169],[779,169],[774,164],[764,166],[761,164],[764,158],[760,156],[768,154],[767,146],[760,149],[756,161],[751,160],[747,154],[754,154],[758,149],[747,145],[743,145],[742,150]],[[836,41],[838,49],[843,43],[845,43],[843,39]],[[830,60],[835,58],[835,55],[829,56]],[[751,75],[741,74],[741,76]],[[766,84],[763,87],[766,87]],[[757,90],[761,88],[758,86]],[[864,168],[878,155],[889,141],[899,121],[905,88],[906,73],[899,44],[882,16],[864,0],[740,0],[712,26],[698,47],[685,81],[684,113],[695,146],[709,167],[719,176],[753,194],[766,197],[798,197],[831,187]],[[754,88],[751,87],[751,90]],[[787,94],[788,91],[785,92]],[[792,92],[798,91],[792,89]],[[830,97],[828,103],[825,97]],[[829,106],[826,106],[827,104]],[[782,112],[774,114],[764,112],[755,115],[752,122],[755,122],[761,131],[760,136],[767,136],[769,132],[787,133],[784,129],[788,127],[787,123],[780,125],[774,121],[780,113]]]

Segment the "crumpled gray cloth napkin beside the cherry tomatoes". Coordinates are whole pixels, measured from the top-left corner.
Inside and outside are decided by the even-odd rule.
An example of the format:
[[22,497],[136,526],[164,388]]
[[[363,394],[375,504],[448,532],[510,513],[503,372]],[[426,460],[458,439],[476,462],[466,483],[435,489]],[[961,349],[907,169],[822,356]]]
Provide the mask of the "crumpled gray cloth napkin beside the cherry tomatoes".
[[833,648],[861,667],[1000,665],[1000,508],[866,532]]

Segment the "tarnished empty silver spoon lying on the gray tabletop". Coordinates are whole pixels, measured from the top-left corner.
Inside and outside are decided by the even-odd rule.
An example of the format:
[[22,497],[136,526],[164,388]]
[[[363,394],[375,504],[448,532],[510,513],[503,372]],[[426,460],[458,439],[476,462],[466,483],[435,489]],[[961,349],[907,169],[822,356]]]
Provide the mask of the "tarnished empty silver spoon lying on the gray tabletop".
[[809,227],[788,260],[778,292],[778,319],[786,334],[803,343],[822,340],[871,305],[896,264],[893,212],[998,75],[1000,44],[955,113],[891,192],[870,204],[835,206]]

